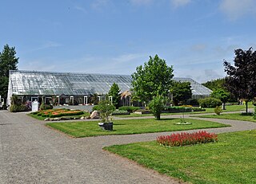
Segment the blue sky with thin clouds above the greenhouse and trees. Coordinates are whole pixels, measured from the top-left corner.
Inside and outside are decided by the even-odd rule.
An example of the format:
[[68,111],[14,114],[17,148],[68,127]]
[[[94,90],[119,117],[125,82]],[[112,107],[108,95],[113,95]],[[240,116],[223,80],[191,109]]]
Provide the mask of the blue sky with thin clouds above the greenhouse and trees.
[[0,50],[18,69],[131,74],[158,54],[174,76],[225,76],[234,49],[256,49],[256,0],[2,0]]

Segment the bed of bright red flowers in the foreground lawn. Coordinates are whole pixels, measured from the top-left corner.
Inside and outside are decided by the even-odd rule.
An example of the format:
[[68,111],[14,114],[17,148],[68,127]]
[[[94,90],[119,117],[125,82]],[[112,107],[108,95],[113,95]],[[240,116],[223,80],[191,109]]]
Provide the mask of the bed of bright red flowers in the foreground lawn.
[[182,147],[197,143],[210,143],[217,142],[218,135],[209,133],[207,131],[197,131],[193,133],[177,133],[172,135],[158,136],[157,142],[163,146],[169,147]]

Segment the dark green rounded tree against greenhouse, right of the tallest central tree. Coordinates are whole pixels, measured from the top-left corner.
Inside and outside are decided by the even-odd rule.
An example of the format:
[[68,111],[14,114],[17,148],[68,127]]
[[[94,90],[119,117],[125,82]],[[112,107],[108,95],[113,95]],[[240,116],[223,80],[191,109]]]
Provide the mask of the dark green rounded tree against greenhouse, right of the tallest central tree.
[[186,100],[192,97],[190,82],[174,81],[174,85],[170,88],[170,92],[174,97],[174,105],[185,104]]

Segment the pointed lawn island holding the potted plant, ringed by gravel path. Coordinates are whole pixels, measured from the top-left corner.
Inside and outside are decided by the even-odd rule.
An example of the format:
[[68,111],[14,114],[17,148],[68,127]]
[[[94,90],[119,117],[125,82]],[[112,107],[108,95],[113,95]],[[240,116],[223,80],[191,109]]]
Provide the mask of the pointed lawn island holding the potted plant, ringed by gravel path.
[[190,125],[175,125],[180,119],[122,119],[114,120],[114,131],[102,131],[98,127],[98,121],[69,122],[69,123],[46,123],[68,135],[74,137],[87,137],[96,135],[125,135],[142,134],[161,131],[182,131],[210,127],[228,127],[222,123],[202,121],[197,119],[186,119]]

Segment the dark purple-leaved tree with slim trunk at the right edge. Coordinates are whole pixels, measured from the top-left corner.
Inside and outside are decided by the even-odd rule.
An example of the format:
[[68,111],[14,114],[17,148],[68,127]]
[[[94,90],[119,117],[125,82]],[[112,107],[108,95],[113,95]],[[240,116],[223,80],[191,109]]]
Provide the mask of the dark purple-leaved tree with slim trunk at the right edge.
[[256,96],[256,52],[252,48],[248,50],[234,50],[234,66],[224,61],[226,72],[226,87],[239,99],[246,102],[248,112],[248,101]]

